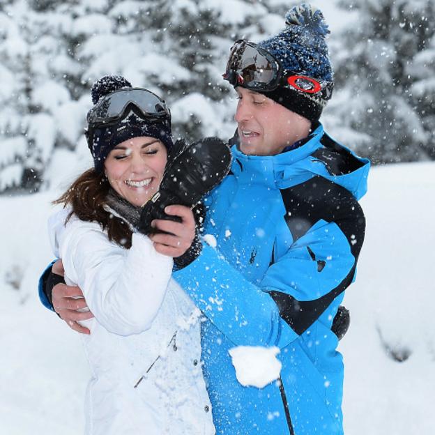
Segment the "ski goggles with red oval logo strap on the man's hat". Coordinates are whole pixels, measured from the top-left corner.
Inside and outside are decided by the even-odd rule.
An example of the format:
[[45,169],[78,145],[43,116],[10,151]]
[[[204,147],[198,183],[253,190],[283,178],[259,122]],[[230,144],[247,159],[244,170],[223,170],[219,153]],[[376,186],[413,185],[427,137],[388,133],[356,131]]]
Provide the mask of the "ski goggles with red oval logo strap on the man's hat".
[[332,86],[322,87],[312,77],[293,73],[282,68],[280,61],[266,49],[245,40],[238,40],[231,47],[224,80],[233,86],[243,86],[251,91],[275,91],[278,86],[329,100]]

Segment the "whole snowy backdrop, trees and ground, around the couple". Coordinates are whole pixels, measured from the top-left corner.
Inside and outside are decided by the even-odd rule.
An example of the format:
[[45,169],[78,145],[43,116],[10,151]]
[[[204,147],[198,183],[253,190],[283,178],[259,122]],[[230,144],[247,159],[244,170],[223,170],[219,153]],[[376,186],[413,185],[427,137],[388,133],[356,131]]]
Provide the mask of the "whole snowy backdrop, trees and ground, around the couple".
[[[91,165],[93,80],[121,73],[160,89],[177,134],[229,137],[231,41],[275,33],[293,3],[0,0],[1,435],[82,432],[81,343],[40,305],[36,282],[51,260],[50,201]],[[415,161],[375,167],[361,201],[367,236],[340,344],[346,434],[432,435],[435,1],[312,3],[332,30],[326,127],[376,163]]]

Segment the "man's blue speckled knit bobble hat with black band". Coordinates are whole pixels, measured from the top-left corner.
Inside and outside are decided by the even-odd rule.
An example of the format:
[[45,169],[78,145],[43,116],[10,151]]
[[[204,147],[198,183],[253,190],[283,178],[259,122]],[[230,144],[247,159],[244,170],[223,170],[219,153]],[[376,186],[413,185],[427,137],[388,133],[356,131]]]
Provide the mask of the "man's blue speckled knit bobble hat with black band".
[[330,31],[321,11],[307,3],[291,8],[285,19],[287,27],[276,36],[261,41],[259,47],[280,61],[285,70],[316,79],[326,91],[310,94],[291,86],[280,86],[274,91],[261,93],[314,122],[319,119],[323,107],[332,96],[334,86],[333,69],[325,41]]

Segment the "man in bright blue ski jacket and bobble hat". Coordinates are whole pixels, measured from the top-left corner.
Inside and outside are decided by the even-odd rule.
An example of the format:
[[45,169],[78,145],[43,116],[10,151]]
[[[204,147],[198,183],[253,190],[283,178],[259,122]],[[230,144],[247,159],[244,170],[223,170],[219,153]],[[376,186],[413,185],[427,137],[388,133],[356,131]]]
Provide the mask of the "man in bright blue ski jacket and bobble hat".
[[[343,433],[331,326],[363,244],[357,200],[369,162],[319,123],[333,89],[323,15],[304,3],[286,20],[277,36],[231,49],[224,78],[238,93],[238,130],[231,172],[206,200],[215,247],[203,243],[174,273],[206,316],[203,372],[217,434]],[[90,315],[70,310],[65,296],[79,292],[68,291],[54,289],[63,319]],[[229,356],[238,345],[278,346],[280,378],[241,386]]]

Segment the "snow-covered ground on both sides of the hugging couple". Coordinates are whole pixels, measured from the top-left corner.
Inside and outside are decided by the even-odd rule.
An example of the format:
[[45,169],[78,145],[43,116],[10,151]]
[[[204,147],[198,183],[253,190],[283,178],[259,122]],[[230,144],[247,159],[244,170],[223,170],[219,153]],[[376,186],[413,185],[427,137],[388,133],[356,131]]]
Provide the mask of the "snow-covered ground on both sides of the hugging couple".
[[[434,433],[434,192],[434,163],[369,176],[367,236],[340,344],[346,435]],[[36,291],[51,259],[46,220],[57,194],[0,197],[0,434],[82,433],[81,342]]]

